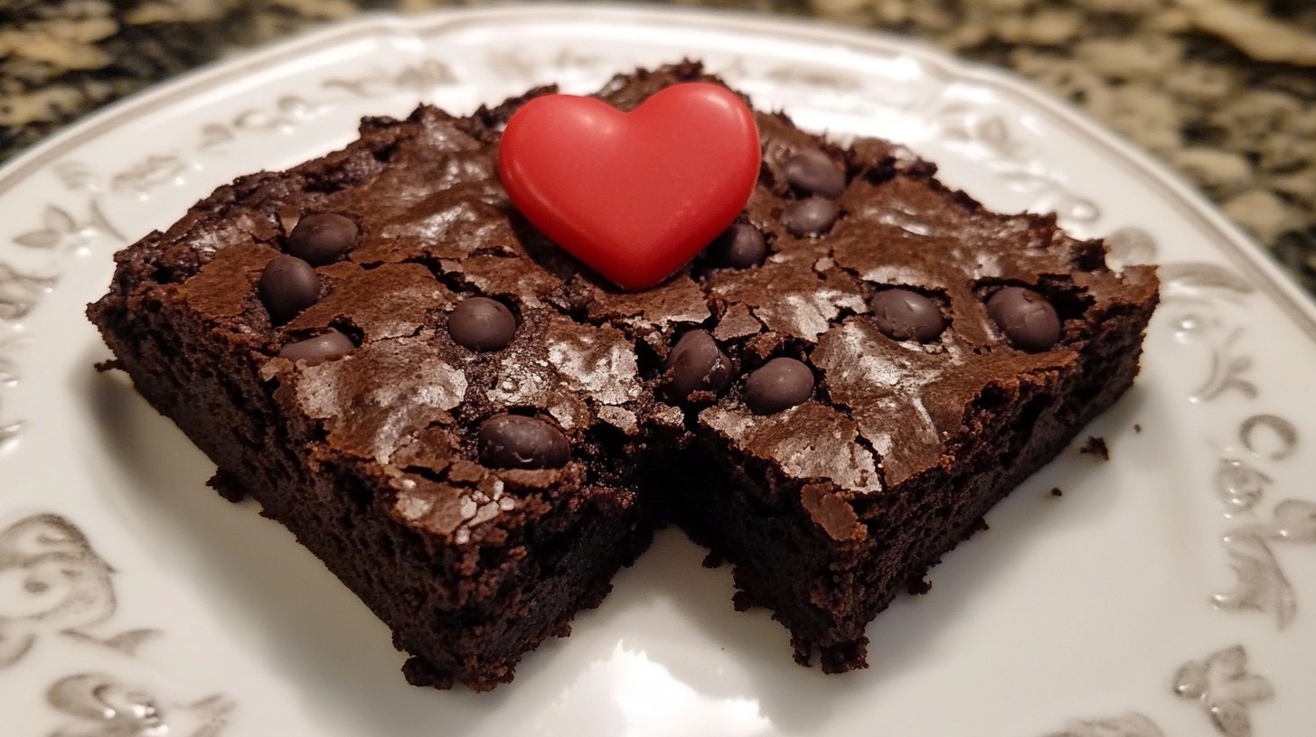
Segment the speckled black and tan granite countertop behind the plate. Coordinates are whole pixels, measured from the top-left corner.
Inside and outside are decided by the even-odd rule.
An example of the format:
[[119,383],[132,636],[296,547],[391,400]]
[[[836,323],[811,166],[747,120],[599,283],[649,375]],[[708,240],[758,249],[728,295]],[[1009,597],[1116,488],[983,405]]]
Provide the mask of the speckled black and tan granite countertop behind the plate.
[[[0,163],[184,70],[442,0],[5,0]],[[687,0],[898,32],[1004,66],[1195,182],[1316,293],[1312,0]]]

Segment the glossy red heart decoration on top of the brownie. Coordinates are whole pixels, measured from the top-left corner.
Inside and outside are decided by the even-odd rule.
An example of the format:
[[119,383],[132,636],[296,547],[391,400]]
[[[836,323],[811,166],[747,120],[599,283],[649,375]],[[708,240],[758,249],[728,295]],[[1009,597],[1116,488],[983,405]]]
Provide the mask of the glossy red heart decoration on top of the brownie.
[[625,290],[662,282],[725,230],[758,167],[754,114],[701,82],[667,87],[629,113],[594,97],[536,97],[499,146],[512,204]]

